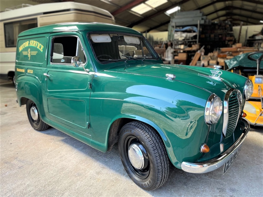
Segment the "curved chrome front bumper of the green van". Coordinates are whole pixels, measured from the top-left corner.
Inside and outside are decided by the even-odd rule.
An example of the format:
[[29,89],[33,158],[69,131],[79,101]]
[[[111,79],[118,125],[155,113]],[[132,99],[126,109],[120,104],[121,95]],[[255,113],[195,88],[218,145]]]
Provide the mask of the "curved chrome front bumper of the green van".
[[221,157],[219,157],[218,159],[209,161],[207,163],[183,162],[181,164],[182,170],[184,170],[185,172],[201,174],[201,173],[211,172],[213,170],[220,168],[222,165],[224,165],[227,162],[227,160],[232,158],[232,156],[238,151],[239,147],[242,145],[242,142],[247,137],[247,133],[249,132],[250,126],[249,126],[249,123],[247,120],[243,119],[243,121],[245,122],[245,124],[247,124],[245,126],[246,129],[245,129],[243,135],[235,142],[235,145],[230,147],[228,150],[225,151],[225,152],[227,152],[227,154],[224,154]]

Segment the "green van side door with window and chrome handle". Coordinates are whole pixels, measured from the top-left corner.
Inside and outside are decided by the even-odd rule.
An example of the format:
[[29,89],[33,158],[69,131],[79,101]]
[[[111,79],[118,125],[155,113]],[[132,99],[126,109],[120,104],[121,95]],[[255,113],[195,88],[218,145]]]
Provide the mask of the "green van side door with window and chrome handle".
[[[78,33],[50,37],[50,60],[44,73],[48,106],[45,110],[50,120],[90,138],[89,99],[94,74],[83,69],[91,64],[81,38]],[[79,56],[82,61],[77,68],[71,64],[73,56]]]

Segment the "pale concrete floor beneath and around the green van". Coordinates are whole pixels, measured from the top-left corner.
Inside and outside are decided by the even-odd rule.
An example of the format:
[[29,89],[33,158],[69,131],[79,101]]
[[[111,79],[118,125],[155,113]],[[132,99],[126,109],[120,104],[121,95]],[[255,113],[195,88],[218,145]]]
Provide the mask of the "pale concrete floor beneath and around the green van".
[[0,196],[263,196],[262,127],[251,128],[225,175],[223,167],[206,174],[172,167],[163,187],[144,191],[117,145],[102,153],[54,128],[35,131],[11,82],[0,81],[0,95]]

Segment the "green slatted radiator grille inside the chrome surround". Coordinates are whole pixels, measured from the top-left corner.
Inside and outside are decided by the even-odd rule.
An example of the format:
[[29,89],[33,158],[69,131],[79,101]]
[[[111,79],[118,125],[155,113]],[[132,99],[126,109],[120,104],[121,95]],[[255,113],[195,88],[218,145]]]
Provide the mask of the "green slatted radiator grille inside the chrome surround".
[[225,139],[232,136],[234,129],[236,127],[236,122],[239,117],[239,93],[237,91],[232,91],[228,98],[228,123],[226,128]]

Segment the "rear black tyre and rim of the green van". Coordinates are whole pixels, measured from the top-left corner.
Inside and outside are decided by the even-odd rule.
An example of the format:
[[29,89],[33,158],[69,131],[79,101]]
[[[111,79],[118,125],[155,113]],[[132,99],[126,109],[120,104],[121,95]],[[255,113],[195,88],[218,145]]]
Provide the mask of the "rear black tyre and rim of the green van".
[[29,120],[31,126],[37,131],[44,131],[44,130],[48,129],[49,125],[44,123],[41,120],[41,118],[39,116],[39,113],[38,113],[38,115],[35,118],[33,118],[31,116],[30,110],[31,110],[32,107],[34,107],[34,109],[37,110],[37,113],[38,113],[38,109],[37,109],[36,103],[34,103],[32,100],[27,100],[27,106],[26,106],[27,117],[28,117],[28,120]]

